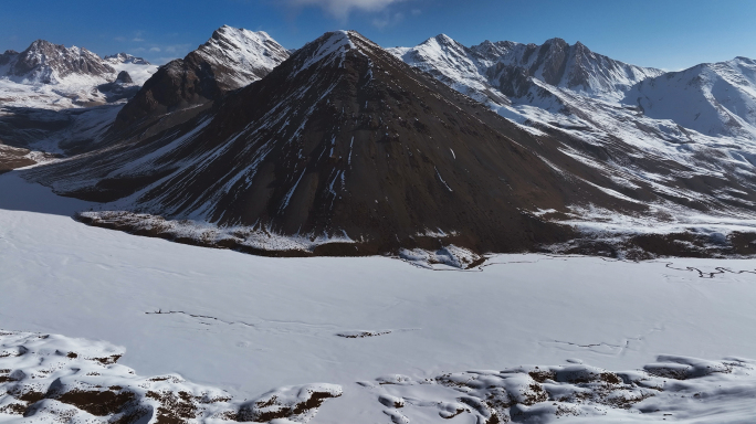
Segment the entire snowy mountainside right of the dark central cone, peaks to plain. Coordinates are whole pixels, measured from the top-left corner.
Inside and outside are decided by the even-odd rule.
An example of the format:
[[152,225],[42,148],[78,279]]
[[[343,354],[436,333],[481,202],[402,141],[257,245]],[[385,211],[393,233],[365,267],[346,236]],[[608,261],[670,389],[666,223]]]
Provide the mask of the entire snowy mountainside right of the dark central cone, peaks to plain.
[[[433,44],[454,49],[429,49]],[[559,139],[565,153],[620,183],[621,193],[679,231],[753,218],[753,61],[660,75],[558,39],[542,46],[485,42],[468,49],[438,36],[392,52],[462,93],[486,97],[489,107],[523,128]],[[497,95],[508,103],[490,100]],[[639,188],[653,195],[639,197]],[[600,208],[588,212],[579,211],[575,221],[603,221],[602,231],[659,231],[657,220],[619,219]]]

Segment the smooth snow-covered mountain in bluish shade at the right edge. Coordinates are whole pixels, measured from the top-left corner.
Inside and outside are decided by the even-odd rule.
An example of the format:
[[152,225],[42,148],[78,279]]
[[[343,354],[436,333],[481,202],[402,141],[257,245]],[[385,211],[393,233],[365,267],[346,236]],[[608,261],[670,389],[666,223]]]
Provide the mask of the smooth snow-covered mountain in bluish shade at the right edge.
[[756,140],[756,61],[736,57],[649,78],[624,103],[706,136]]

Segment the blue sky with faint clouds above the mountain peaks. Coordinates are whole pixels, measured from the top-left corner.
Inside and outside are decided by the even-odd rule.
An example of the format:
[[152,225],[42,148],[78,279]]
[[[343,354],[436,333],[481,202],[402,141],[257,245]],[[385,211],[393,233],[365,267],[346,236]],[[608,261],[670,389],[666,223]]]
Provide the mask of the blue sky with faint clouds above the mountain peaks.
[[286,47],[353,29],[384,46],[445,33],[484,40],[581,41],[632,64],[680,70],[756,59],[756,0],[23,0],[0,13],[0,51],[36,39],[155,63],[182,57],[214,29],[264,30]]

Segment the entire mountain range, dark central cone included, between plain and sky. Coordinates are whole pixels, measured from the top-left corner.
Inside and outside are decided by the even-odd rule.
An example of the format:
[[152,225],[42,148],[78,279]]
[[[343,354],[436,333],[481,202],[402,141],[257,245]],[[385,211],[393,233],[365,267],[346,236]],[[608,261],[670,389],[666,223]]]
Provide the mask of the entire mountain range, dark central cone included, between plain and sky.
[[[2,56],[9,81],[108,75],[112,93],[118,66],[148,66],[36,44],[44,59]],[[126,104],[6,110],[0,140],[66,156],[23,172],[103,202],[82,221],[216,247],[756,254],[755,75],[744,57],[665,73],[560,39],[385,50],[342,31],[291,52],[223,26]]]

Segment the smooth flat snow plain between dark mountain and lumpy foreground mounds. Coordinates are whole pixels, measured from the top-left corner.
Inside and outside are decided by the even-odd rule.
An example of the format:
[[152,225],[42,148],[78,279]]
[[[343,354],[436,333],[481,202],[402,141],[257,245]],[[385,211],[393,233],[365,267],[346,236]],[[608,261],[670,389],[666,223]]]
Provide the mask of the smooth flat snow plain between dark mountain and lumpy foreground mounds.
[[[522,254],[461,272],[389,257],[269,258],[71,219],[91,206],[18,172],[0,176],[0,329],[115,343],[125,349],[118,363],[140,375],[177,373],[240,399],[340,385],[344,394],[313,423],[448,422],[438,410],[453,414],[460,388],[421,382],[470,370],[584,363],[632,371],[658,361],[695,369],[686,358],[756,359],[753,259]],[[666,386],[669,402],[660,394],[597,416],[549,411],[526,418],[753,422],[754,362],[728,361],[712,363],[739,363],[741,371],[685,380],[678,385],[694,388],[682,392]],[[380,384],[387,381],[393,384]],[[693,391],[717,407],[685,403]],[[395,399],[407,406],[387,409]],[[672,415],[641,414],[649,405]],[[450,422],[480,416],[465,412]]]

